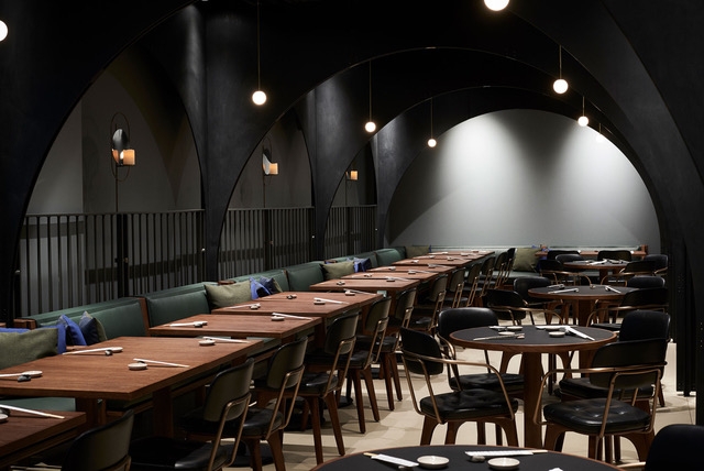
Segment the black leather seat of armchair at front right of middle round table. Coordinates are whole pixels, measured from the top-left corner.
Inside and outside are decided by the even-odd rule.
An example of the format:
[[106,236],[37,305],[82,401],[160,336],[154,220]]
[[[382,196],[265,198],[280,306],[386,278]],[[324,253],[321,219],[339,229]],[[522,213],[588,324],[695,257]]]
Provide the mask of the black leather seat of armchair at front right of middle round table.
[[[602,427],[606,399],[580,399],[548,404],[542,412],[551,423],[585,435],[596,435]],[[606,435],[646,428],[650,414],[622,401],[612,401],[606,419]]]

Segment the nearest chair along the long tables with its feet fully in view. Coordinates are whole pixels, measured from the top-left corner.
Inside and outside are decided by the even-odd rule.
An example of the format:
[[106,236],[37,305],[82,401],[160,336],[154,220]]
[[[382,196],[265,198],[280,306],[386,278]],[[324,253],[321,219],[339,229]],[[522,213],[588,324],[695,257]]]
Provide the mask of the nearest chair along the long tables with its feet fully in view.
[[321,463],[322,457],[322,404],[328,408],[330,425],[338,446],[338,453],[344,454],[342,426],[338,414],[338,402],[344,379],[348,375],[351,353],[356,340],[359,313],[351,313],[336,318],[326,331],[324,344],[306,354],[306,372],[298,388],[298,396],[305,399],[301,428],[307,428],[310,414],[316,461]]

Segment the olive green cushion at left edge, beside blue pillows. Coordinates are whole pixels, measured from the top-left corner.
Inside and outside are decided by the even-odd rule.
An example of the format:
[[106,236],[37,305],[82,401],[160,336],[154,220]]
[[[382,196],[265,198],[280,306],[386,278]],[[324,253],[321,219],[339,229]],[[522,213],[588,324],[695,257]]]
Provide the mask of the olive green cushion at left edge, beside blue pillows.
[[0,332],[0,369],[56,354],[58,331],[34,329],[26,332]]

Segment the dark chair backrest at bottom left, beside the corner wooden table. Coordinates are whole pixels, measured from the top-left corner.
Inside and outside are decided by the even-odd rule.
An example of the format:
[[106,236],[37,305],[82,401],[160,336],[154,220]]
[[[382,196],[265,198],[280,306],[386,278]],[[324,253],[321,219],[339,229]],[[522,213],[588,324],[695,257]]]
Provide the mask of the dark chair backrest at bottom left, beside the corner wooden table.
[[68,448],[62,469],[65,471],[129,469],[133,423],[134,413],[130,409],[117,420],[84,431]]

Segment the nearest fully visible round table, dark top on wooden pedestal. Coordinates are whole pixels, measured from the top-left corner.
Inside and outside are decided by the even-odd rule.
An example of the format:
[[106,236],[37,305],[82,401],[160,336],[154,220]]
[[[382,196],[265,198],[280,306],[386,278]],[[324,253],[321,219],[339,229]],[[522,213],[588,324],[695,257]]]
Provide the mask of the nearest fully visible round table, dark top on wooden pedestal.
[[[588,289],[588,287],[587,287]],[[557,326],[551,326],[557,327]],[[576,336],[561,338],[550,337],[546,329],[536,326],[524,326],[521,333],[524,339],[496,338],[492,340],[476,340],[484,337],[497,337],[497,331],[490,327],[476,327],[473,329],[458,330],[450,335],[450,341],[460,347],[494,350],[505,353],[522,355],[524,374],[524,445],[526,447],[542,447],[542,427],[534,423],[534,416],[540,407],[540,383],[542,381],[543,353],[553,353],[565,358],[570,352],[579,351],[580,364],[588,365],[591,355],[583,355],[610,343],[616,339],[616,332],[593,327],[575,327],[579,332],[592,337],[594,340],[583,339]],[[507,360],[506,360],[507,362]],[[503,362],[502,366],[505,366]],[[502,368],[501,371],[504,371]]]

